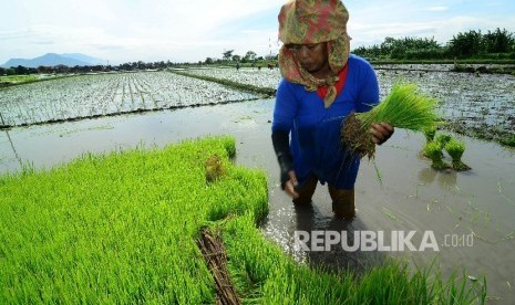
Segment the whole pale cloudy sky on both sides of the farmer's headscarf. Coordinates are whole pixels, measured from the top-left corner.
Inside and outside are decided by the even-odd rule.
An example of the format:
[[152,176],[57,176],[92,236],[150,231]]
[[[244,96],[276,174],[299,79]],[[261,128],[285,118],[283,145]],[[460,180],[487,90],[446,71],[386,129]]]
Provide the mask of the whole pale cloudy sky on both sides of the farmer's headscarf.
[[[105,63],[198,62],[225,51],[277,54],[284,0],[4,0],[0,64],[45,53],[83,53]],[[515,33],[515,1],[343,1],[351,49],[384,38],[434,38],[497,28]]]

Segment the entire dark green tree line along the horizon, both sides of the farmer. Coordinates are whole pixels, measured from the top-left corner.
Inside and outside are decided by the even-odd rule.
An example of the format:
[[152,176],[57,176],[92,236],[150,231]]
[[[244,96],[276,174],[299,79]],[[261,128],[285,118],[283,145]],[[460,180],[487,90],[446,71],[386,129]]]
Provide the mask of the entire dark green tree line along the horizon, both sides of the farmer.
[[[471,30],[453,35],[445,44],[440,44],[434,38],[403,38],[388,36],[381,44],[360,46],[352,51],[354,54],[368,60],[454,60],[454,59],[485,59],[485,60],[515,60],[515,34],[506,29],[497,28],[495,31],[482,33]],[[256,52],[248,51],[245,55],[234,54],[234,50],[225,51],[222,59],[207,57],[198,63],[172,63],[142,61],[115,65],[94,66],[39,66],[39,67],[0,67],[1,75],[23,75],[35,73],[87,73],[109,71],[163,70],[177,65],[196,64],[235,64],[250,65],[275,62],[277,55],[258,56]]]

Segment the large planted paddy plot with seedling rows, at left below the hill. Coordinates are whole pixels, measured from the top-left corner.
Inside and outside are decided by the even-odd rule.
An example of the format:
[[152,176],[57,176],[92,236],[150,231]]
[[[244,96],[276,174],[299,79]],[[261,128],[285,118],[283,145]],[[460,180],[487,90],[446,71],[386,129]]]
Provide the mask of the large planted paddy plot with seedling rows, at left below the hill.
[[76,75],[3,88],[0,123],[29,126],[254,98],[250,93],[169,72]]

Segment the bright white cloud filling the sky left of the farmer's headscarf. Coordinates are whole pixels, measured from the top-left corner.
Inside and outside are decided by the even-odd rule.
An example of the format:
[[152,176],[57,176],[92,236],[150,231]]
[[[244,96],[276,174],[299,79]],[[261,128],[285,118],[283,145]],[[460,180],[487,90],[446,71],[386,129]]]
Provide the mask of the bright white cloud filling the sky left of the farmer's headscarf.
[[[0,62],[9,57],[34,57],[47,52],[90,52],[99,57],[124,61],[196,61],[234,44],[258,39],[267,32],[256,24],[225,28],[260,12],[278,11],[276,0],[39,0],[12,3],[0,40]],[[55,11],[58,8],[58,11]],[[49,18],[51,17],[51,18]],[[275,27],[274,27],[275,28]],[[43,45],[43,42],[45,42]],[[3,43],[2,43],[3,44]]]

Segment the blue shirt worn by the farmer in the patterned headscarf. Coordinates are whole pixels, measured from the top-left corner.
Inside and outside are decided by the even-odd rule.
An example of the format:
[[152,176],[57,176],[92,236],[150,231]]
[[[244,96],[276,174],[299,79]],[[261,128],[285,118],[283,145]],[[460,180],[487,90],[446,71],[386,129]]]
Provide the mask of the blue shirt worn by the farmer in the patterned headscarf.
[[315,175],[338,189],[352,189],[359,159],[341,147],[343,118],[351,112],[368,112],[379,103],[379,85],[369,62],[351,54],[342,92],[329,108],[317,92],[285,78],[279,83],[274,108],[272,132],[290,134],[290,151],[299,185]]

